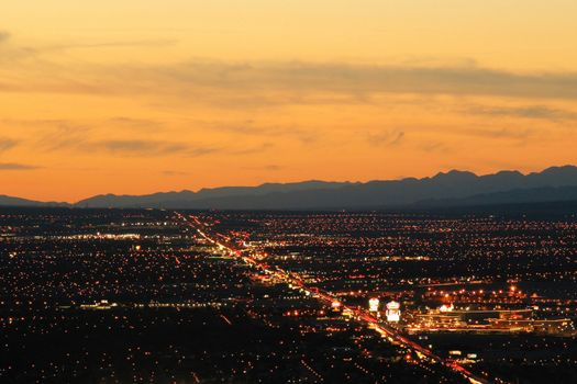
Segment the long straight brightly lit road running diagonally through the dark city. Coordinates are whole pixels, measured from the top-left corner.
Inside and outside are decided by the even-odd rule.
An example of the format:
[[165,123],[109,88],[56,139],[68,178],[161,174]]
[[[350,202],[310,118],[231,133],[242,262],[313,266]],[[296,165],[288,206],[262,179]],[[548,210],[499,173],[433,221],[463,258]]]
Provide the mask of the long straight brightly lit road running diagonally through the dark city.
[[332,305],[333,303],[340,303],[342,306],[342,309],[347,309],[351,313],[354,314],[354,317],[369,326],[371,329],[375,329],[378,334],[380,334],[384,338],[386,338],[389,342],[398,345],[400,347],[407,348],[414,352],[422,361],[430,361],[435,363],[441,363],[445,365],[446,368],[462,374],[465,379],[467,379],[470,383],[474,384],[489,384],[491,383],[489,380],[485,377],[480,377],[473,372],[468,371],[463,365],[458,364],[455,361],[448,361],[445,360],[435,353],[433,353],[430,349],[424,348],[423,346],[407,339],[404,336],[402,336],[399,330],[381,323],[379,319],[377,319],[375,316],[373,316],[368,310],[360,309],[357,307],[349,307],[346,305],[342,305],[340,300],[336,296],[333,296],[331,293],[319,290],[317,287],[308,287],[302,279],[296,273],[289,273],[278,267],[269,267],[266,263],[258,261],[249,256],[243,256],[240,249],[236,249],[235,246],[231,246],[226,241],[230,241],[231,239],[221,235],[221,234],[208,234],[208,230],[206,229],[206,225],[199,221],[197,216],[185,216],[182,214],[177,213],[178,217],[180,217],[185,223],[187,223],[191,228],[193,228],[200,236],[202,236],[204,239],[213,244],[214,246],[219,247],[220,250],[226,251],[230,255],[242,259],[245,263],[253,266],[254,268],[263,271],[264,273],[270,274],[275,276],[276,279],[286,282],[287,284],[290,284],[292,286],[296,286],[303,292],[317,297],[321,302]]

